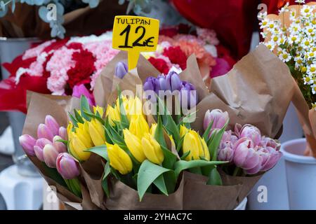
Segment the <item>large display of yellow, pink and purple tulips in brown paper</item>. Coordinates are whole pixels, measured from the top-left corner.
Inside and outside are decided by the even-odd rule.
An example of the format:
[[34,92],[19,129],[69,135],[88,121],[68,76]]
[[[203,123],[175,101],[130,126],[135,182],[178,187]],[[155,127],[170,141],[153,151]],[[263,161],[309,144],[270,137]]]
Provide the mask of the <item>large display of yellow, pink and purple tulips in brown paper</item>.
[[[275,139],[294,94],[287,66],[260,45],[213,78],[209,92],[193,55],[180,73],[161,73],[144,57],[131,71],[125,62],[119,52],[98,76],[97,106],[84,95],[29,96],[21,144],[60,200],[76,209],[237,207],[282,155]],[[276,85],[279,78],[284,83]],[[67,152],[57,155],[48,143],[45,165],[32,151],[36,137],[55,139]],[[49,166],[63,179],[77,176],[81,197]]]

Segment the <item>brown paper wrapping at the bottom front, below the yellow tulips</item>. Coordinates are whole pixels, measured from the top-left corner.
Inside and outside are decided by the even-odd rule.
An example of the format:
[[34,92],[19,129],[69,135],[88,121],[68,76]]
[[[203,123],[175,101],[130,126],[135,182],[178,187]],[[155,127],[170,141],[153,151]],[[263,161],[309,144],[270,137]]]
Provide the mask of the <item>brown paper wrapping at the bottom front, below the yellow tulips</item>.
[[121,181],[110,179],[110,197],[106,200],[106,207],[110,210],[180,210],[183,209],[183,182],[182,178],[178,189],[169,196],[145,193],[140,202],[136,190]]

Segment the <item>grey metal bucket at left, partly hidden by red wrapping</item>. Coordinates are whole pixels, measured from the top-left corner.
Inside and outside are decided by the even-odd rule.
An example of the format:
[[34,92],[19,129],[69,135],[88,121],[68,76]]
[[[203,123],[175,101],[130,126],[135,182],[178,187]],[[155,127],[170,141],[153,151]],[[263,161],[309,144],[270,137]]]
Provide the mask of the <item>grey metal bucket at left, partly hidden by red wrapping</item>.
[[[0,38],[0,62],[12,62],[15,57],[22,55],[25,50],[29,49],[32,43],[39,42],[38,38]],[[2,78],[8,78],[10,73],[1,66]],[[25,114],[21,112],[8,112],[8,118],[13,131],[13,140],[15,153],[13,153],[13,161],[18,165],[18,172],[23,176],[39,176],[32,162],[25,157],[18,138],[22,134],[23,125],[25,123]]]

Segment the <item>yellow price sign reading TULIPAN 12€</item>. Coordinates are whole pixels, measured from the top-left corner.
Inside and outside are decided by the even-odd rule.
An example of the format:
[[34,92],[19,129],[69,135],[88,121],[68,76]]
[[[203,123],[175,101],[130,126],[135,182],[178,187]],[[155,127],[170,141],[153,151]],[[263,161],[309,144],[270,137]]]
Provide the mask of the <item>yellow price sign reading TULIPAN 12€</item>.
[[136,68],[140,52],[155,51],[159,20],[132,15],[114,18],[112,48],[128,51],[129,70]]

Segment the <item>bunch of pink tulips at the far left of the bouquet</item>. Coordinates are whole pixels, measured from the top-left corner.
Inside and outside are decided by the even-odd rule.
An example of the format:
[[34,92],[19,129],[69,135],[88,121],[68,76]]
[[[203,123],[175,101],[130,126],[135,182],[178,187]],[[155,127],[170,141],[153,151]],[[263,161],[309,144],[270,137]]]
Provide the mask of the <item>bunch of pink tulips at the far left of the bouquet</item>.
[[37,139],[29,134],[23,134],[20,145],[30,157],[36,157],[43,162],[46,170],[72,193],[81,197],[81,187],[78,180],[79,164],[67,153],[67,130],[60,126],[55,118],[46,116],[45,123],[37,128]]

